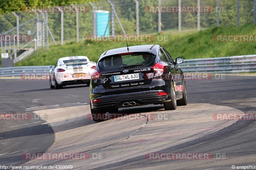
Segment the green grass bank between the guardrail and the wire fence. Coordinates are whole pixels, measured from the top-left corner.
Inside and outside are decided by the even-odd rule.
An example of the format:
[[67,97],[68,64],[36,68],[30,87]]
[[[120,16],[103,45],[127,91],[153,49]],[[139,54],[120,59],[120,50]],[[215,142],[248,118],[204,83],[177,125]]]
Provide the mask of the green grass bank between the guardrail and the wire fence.
[[[184,59],[256,54],[256,42],[216,42],[212,38],[214,35],[256,35],[256,25],[222,26],[200,32],[184,30],[180,34],[166,31],[161,35],[168,35],[168,41],[129,42],[129,46],[159,44],[173,58],[180,56]],[[86,55],[97,62],[104,51],[125,46],[126,42],[68,42],[63,46],[50,46],[49,51],[41,48],[16,66],[54,65],[58,58],[74,55]]]

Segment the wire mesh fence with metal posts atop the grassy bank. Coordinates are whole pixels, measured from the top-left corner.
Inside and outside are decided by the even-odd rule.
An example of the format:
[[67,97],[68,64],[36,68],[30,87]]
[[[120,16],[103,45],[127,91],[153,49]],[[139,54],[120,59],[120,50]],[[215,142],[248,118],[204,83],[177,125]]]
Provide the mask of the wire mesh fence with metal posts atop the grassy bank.
[[[198,2],[200,2],[200,5]],[[1,52],[7,52],[9,56],[14,56],[14,52],[21,51],[20,53],[22,53],[21,48],[38,49],[46,47],[48,46],[48,39],[50,45],[54,44],[54,41],[57,44],[63,44],[63,42],[61,43],[61,36],[63,36],[64,43],[87,40],[88,36],[95,34],[93,32],[93,22],[95,22],[93,11],[109,12],[108,18],[98,17],[96,21],[97,29],[105,30],[103,31],[104,35],[122,35],[124,32],[135,35],[138,33],[137,31],[140,34],[154,34],[159,31],[170,30],[178,31],[179,25],[181,30],[196,29],[198,28],[198,19],[199,26],[203,29],[217,26],[217,18],[219,18],[220,26],[235,26],[237,24],[236,2],[237,0],[139,0],[139,6],[136,9],[136,0],[100,0],[92,3],[76,4],[75,6],[83,6],[87,9],[86,11],[79,11],[78,15],[76,11],[70,11],[71,8],[62,14],[60,10],[40,13],[40,11],[32,11],[31,8],[30,11],[23,9],[22,12],[16,12],[19,21],[19,35],[27,36],[27,39],[23,41],[15,42],[15,38],[14,41],[8,41],[7,38],[3,38],[4,36],[18,34],[18,29],[15,28],[17,17],[13,13],[0,15]],[[239,1],[239,25],[254,22],[254,3],[254,0]],[[198,18],[199,13],[193,10],[198,5],[208,7],[208,11],[199,12],[200,18]],[[63,6],[61,7],[64,9]],[[34,9],[37,10],[38,8],[35,7]],[[177,10],[179,8],[181,11]],[[189,9],[192,9],[192,11]],[[138,10],[138,16],[136,10]],[[62,15],[63,23],[61,22]],[[76,17],[78,17],[78,24]],[[107,25],[100,24],[103,22]],[[61,31],[62,26],[63,32]],[[137,30],[137,26],[139,26],[139,30]],[[79,33],[77,34],[78,30]]]

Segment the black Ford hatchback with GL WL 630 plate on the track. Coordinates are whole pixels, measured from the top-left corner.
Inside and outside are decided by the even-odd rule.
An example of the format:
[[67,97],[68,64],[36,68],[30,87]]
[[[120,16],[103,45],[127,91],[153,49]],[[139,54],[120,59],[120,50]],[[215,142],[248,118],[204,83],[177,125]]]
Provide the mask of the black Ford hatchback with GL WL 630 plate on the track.
[[90,105],[92,118],[118,108],[164,104],[165,110],[187,105],[183,71],[159,45],[132,46],[104,52],[92,73]]

